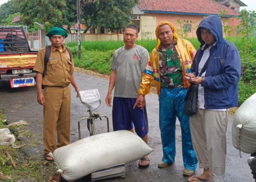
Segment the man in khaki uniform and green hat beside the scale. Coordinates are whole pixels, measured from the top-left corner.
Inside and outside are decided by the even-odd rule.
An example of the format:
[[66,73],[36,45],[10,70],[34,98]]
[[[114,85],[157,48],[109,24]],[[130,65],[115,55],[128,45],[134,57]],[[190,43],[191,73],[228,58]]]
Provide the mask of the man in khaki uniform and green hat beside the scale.
[[[46,34],[52,45],[50,57],[44,75],[44,56],[46,48],[38,51],[34,71],[37,72],[37,102],[44,106],[44,146],[45,159],[53,161],[55,149],[69,144],[71,86],[79,97],[79,88],[74,79],[74,62],[70,60],[68,50],[63,46],[67,32],[58,27]],[[42,93],[44,86],[44,94]],[[56,144],[57,132],[57,144]]]

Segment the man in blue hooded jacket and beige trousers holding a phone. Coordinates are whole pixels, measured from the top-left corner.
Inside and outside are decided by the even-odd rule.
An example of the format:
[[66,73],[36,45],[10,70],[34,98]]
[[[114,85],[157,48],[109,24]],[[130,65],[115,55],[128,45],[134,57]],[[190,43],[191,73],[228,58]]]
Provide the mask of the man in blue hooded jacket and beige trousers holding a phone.
[[[190,129],[199,168],[204,171],[188,181],[225,182],[228,111],[238,106],[241,60],[237,48],[223,39],[218,16],[205,17],[196,34],[201,46],[187,77],[199,84],[198,110],[190,118]],[[206,71],[198,76],[204,64]]]

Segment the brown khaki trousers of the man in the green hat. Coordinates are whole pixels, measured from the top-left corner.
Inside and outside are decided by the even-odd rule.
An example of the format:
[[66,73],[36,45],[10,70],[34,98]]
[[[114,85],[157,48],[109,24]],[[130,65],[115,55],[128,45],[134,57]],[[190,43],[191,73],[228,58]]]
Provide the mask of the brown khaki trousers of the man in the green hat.
[[[70,136],[71,86],[44,89],[44,131],[45,154],[68,145]],[[57,145],[56,145],[57,132]]]

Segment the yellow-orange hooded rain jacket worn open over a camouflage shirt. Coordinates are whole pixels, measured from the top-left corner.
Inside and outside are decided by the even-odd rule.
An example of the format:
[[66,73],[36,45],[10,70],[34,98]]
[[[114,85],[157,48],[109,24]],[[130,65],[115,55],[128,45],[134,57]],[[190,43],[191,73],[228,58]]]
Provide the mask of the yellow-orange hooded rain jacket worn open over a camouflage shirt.
[[175,44],[175,48],[178,52],[180,58],[180,64],[182,68],[182,75],[183,75],[183,83],[184,87],[188,88],[189,83],[186,78],[184,78],[186,71],[191,68],[192,60],[196,54],[196,49],[193,45],[185,39],[180,39],[177,35],[176,29],[169,21],[162,21],[158,24],[157,28],[155,29],[155,35],[157,36],[157,46],[155,46],[154,50],[152,51],[150,58],[148,60],[146,69],[142,76],[142,82],[140,83],[140,88],[138,90],[138,94],[146,95],[150,92],[150,88],[155,83],[157,87],[157,94],[160,93],[160,75],[159,75],[159,54],[158,49],[161,46],[161,42],[158,39],[158,29],[161,25],[168,24],[172,28],[173,31],[173,40],[177,41]]

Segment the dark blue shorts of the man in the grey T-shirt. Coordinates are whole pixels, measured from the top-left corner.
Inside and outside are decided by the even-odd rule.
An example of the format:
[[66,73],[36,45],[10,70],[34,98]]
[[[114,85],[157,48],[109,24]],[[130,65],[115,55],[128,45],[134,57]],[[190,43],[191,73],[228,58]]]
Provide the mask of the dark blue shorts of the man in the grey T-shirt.
[[133,109],[136,99],[114,97],[113,99],[113,130],[131,130],[134,126],[136,134],[144,137],[148,133],[148,120],[146,106],[141,110]]

